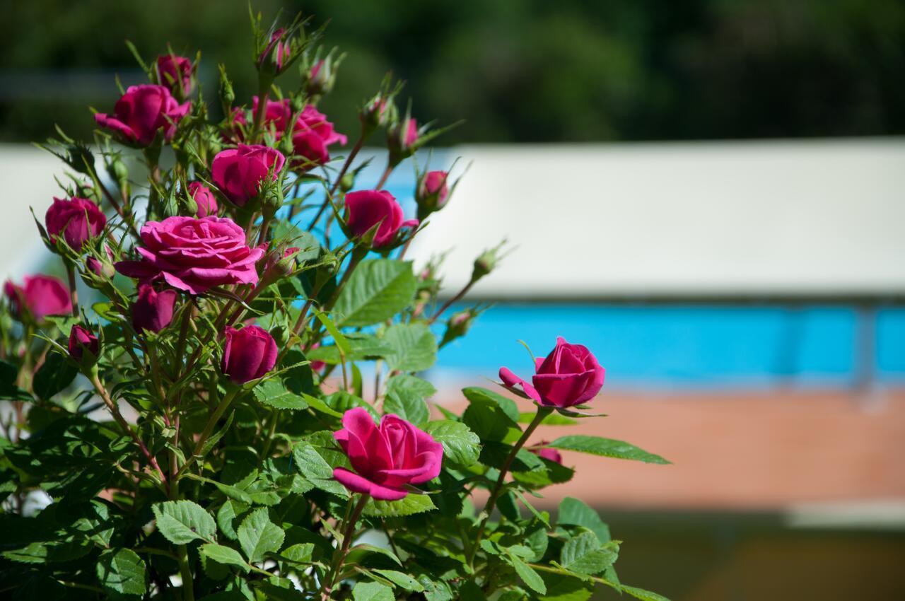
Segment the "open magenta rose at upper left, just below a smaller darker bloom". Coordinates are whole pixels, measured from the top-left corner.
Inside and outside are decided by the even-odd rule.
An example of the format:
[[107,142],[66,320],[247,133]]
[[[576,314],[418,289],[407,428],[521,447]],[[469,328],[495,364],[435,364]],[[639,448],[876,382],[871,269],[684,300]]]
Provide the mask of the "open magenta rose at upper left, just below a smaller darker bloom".
[[169,140],[176,133],[176,123],[188,114],[191,102],[179,102],[165,86],[129,86],[117,100],[113,114],[97,113],[94,120],[102,128],[119,134],[123,141],[138,146],[149,146],[162,129]]

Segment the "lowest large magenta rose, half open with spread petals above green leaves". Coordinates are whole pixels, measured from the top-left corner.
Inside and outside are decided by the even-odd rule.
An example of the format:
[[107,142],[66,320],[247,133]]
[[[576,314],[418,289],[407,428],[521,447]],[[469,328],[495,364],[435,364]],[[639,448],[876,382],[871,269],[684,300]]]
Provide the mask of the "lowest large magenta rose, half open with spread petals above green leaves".
[[423,484],[440,474],[443,445],[397,415],[384,415],[375,425],[363,407],[349,409],[343,428],[333,433],[355,472],[338,467],[333,477],[349,491],[380,501],[408,494],[408,484]]

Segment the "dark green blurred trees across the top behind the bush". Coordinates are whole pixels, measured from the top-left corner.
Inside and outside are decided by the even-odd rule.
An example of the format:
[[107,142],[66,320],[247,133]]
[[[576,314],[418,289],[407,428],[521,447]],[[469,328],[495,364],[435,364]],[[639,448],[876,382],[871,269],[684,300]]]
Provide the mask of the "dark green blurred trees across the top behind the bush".
[[[418,119],[466,117],[446,143],[905,133],[900,0],[253,4],[330,21],[326,42],[348,59],[325,108],[344,132],[357,128],[351,109],[376,90],[376,73],[393,69],[421,100]],[[231,75],[247,99],[247,13],[238,0],[7,3],[0,139],[44,138],[53,122],[88,134],[83,111],[110,109],[114,74],[141,76],[127,38],[148,59],[167,43],[201,50],[209,96],[216,63],[245,60]]]

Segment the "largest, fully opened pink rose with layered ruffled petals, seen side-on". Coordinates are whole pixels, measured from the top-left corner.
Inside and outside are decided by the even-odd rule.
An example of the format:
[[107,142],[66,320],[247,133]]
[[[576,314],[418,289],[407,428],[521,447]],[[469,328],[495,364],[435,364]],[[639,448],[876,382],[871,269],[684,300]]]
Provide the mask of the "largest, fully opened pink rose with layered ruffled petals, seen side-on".
[[141,227],[141,261],[116,269],[142,281],[163,280],[177,290],[201,294],[214,286],[254,284],[254,263],[264,252],[249,248],[245,232],[226,217],[167,217]]

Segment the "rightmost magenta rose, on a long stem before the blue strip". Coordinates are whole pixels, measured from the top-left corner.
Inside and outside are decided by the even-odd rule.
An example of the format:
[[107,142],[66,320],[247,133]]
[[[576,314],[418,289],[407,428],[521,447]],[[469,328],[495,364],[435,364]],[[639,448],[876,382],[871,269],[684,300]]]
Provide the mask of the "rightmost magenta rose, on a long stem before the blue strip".
[[503,386],[539,405],[565,408],[591,400],[604,386],[605,369],[586,347],[569,344],[561,336],[547,358],[536,360],[535,375],[528,382],[500,367]]

